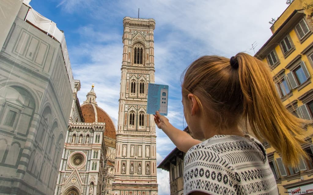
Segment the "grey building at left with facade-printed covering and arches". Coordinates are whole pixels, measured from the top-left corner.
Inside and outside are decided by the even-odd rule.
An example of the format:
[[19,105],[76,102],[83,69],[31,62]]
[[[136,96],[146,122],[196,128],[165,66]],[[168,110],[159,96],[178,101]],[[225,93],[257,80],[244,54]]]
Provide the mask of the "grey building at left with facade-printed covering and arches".
[[60,44],[26,13],[0,52],[0,193],[53,194],[73,94]]

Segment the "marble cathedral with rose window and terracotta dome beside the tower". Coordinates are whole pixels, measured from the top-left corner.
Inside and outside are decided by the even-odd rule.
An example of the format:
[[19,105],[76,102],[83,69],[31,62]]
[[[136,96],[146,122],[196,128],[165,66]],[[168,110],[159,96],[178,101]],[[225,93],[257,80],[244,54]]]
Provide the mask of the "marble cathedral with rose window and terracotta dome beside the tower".
[[111,194],[114,159],[115,126],[109,115],[98,107],[94,85],[79,104],[75,82],[69,127],[64,143],[55,195]]

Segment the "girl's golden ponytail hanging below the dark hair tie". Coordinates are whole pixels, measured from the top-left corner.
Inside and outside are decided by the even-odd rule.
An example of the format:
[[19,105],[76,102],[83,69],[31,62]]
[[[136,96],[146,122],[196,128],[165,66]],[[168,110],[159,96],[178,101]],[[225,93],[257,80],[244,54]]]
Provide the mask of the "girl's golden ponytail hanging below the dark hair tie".
[[239,53],[235,56],[239,67],[239,81],[243,93],[243,116],[249,122],[254,136],[266,139],[293,167],[299,158],[307,157],[301,144],[303,124],[306,122],[292,115],[282,104],[269,68],[256,58]]

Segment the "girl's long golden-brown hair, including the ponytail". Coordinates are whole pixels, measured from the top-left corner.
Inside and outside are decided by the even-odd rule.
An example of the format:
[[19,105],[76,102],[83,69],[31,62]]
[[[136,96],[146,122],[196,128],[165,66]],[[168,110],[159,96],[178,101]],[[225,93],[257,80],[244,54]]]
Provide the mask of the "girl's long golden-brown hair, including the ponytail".
[[182,96],[196,96],[201,112],[218,129],[238,125],[245,120],[250,133],[267,140],[282,156],[285,164],[295,167],[299,157],[307,157],[301,144],[303,124],[291,114],[278,96],[267,64],[246,54],[235,56],[239,67],[230,59],[203,56],[186,70]]

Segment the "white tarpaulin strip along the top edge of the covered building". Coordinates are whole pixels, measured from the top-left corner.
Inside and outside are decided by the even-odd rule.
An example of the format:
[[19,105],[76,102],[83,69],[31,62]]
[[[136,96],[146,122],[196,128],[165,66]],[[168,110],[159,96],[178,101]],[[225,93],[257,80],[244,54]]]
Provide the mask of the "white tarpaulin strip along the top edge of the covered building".
[[[24,3],[28,5],[30,0],[24,0]],[[61,49],[65,61],[65,66],[67,70],[67,74],[69,76],[69,83],[71,85],[72,91],[74,90],[74,77],[72,73],[71,63],[69,61],[69,53],[67,51],[65,36],[62,31],[59,30],[55,22],[52,22],[48,18],[40,15],[38,12],[36,12],[33,8],[29,8],[29,12],[27,14],[26,20],[36,27],[40,28],[47,34],[50,34],[52,37],[54,37],[56,40],[58,40],[61,43]]]

